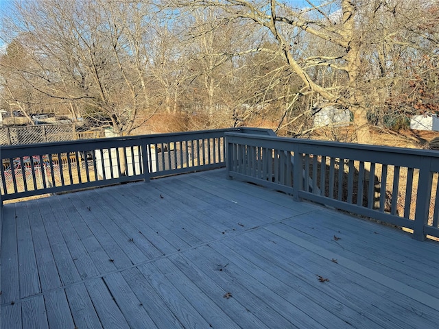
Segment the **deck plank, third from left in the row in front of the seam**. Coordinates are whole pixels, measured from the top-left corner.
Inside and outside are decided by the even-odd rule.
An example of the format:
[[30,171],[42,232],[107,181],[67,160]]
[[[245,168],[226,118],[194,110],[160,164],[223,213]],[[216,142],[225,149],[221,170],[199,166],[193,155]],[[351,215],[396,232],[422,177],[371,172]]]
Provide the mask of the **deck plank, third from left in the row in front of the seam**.
[[64,289],[44,294],[49,328],[75,328]]

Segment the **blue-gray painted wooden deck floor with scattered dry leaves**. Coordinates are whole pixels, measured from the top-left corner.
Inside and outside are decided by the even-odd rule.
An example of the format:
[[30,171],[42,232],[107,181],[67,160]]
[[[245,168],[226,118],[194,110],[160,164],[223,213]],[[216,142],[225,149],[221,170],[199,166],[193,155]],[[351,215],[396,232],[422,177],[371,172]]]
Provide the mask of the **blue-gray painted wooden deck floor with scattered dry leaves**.
[[437,328],[439,243],[225,175],[5,204],[1,328]]

